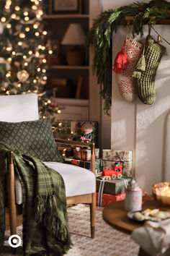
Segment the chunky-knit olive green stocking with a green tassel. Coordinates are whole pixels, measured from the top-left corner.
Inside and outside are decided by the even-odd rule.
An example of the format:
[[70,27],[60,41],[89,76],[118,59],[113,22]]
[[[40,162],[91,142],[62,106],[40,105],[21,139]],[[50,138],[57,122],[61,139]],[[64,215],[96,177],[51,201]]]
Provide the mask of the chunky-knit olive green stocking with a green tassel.
[[156,71],[165,49],[151,35],[148,35],[143,46],[143,53],[133,72],[133,77],[136,78],[138,97],[145,104],[151,105],[156,101]]

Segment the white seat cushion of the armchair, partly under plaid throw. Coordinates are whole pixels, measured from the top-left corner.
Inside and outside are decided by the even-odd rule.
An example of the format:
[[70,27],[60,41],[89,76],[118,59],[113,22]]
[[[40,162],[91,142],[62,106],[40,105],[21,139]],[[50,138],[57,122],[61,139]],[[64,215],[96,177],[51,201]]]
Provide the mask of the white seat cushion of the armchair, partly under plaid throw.
[[[67,163],[44,162],[46,166],[58,171],[63,177],[66,187],[66,197],[75,195],[86,195],[96,191],[95,175],[79,166],[72,166]],[[16,202],[22,204],[22,187],[18,177],[15,178]]]

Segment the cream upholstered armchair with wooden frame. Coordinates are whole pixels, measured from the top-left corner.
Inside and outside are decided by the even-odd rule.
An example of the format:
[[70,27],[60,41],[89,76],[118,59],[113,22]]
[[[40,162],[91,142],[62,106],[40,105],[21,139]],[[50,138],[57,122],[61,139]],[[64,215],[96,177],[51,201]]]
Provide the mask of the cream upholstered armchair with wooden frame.
[[[0,96],[0,121],[22,122],[38,120],[37,95],[35,93],[24,95]],[[1,132],[1,131],[0,131]],[[62,144],[87,147],[85,143],[58,140]],[[96,211],[96,182],[94,167],[94,143],[91,148],[91,171],[79,166],[66,163],[45,162],[45,165],[58,171],[63,177],[66,187],[67,204],[86,203],[90,205],[91,237],[94,237],[95,211]],[[9,220],[11,234],[16,234],[17,215],[22,205],[22,186],[14,174],[12,152],[9,154]]]

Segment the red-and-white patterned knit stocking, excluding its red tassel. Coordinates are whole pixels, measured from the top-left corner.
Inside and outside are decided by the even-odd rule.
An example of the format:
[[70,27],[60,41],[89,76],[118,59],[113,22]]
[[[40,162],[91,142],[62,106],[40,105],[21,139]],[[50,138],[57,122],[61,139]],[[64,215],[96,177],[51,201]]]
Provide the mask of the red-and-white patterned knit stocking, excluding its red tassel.
[[123,69],[122,74],[116,74],[116,81],[120,90],[120,95],[126,101],[133,101],[136,95],[133,71],[140,57],[141,50],[142,45],[132,36],[127,35],[124,51],[128,58],[128,64],[126,69]]

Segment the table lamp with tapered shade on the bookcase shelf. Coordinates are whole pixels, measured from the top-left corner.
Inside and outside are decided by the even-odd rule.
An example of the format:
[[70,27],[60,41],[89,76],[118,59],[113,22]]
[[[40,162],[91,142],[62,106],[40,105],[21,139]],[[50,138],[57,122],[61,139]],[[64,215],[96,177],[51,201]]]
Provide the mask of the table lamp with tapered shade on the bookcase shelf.
[[74,46],[68,51],[66,61],[69,66],[79,66],[84,62],[84,53],[78,46],[84,46],[86,35],[78,23],[71,23],[61,41],[62,45]]

